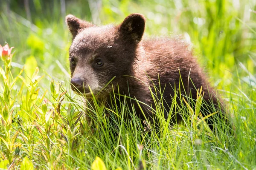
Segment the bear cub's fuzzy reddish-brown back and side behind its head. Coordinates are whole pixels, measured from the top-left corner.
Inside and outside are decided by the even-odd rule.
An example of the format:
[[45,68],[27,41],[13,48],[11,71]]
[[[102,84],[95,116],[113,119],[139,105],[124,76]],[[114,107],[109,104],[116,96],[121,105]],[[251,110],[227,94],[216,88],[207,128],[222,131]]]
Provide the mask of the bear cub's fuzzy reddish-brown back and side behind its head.
[[[148,79],[148,85],[153,92],[155,92],[154,87],[158,88],[155,93],[158,97],[163,96],[166,101],[163,103],[166,108],[166,117],[175,91],[180,92],[181,96],[189,94],[192,99],[196,99],[197,89],[202,86],[205,101],[211,100],[218,105],[215,92],[186,43],[177,38],[149,38],[143,40],[142,45],[143,50],[140,52],[141,55],[138,55],[137,61],[137,77],[143,78],[143,81]],[[182,101],[180,94],[176,101],[178,104]],[[151,100],[151,104],[152,102]]]

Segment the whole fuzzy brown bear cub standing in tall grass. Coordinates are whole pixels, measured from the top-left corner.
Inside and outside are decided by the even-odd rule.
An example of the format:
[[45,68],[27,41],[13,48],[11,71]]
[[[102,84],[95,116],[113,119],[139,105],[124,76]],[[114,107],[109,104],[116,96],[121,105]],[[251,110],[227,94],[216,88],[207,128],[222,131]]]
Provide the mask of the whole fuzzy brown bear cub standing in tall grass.
[[[117,26],[95,26],[73,15],[67,15],[66,22],[73,35],[70,46],[71,88],[89,101],[93,93],[97,100],[105,101],[106,107],[111,105],[113,97],[119,106],[124,102],[124,96],[129,96],[133,98],[126,102],[130,111],[134,107],[140,119],[156,123],[154,96],[163,97],[164,117],[167,119],[172,114],[170,106],[175,94],[181,105],[183,100],[180,97],[190,96],[195,100],[197,89],[202,86],[204,105],[201,112],[209,115],[218,111],[215,117],[225,117],[220,112],[223,107],[219,107],[216,94],[207,84],[187,45],[178,39],[143,39],[143,15],[131,14]],[[135,99],[144,104],[139,106]],[[175,112],[175,116],[169,116],[176,123],[182,116],[179,111]],[[210,117],[208,123],[213,128],[214,118],[210,120]]]

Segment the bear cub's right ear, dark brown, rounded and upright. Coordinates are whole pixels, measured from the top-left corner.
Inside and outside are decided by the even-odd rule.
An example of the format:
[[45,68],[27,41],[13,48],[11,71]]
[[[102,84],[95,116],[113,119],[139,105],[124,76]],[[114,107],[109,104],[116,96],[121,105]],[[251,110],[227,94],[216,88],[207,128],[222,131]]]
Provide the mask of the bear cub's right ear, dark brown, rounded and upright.
[[145,17],[142,14],[131,14],[119,25],[119,31],[125,37],[130,37],[135,43],[142,39],[145,29]]

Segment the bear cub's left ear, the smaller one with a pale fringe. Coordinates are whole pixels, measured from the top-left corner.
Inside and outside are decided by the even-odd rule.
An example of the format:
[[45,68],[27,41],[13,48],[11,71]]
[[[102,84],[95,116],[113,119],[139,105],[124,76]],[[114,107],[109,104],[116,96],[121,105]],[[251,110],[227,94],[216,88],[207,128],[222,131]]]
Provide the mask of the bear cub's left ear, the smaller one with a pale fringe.
[[66,23],[68,25],[68,28],[70,29],[71,34],[73,35],[73,39],[76,37],[81,29],[94,26],[92,23],[80,20],[79,18],[71,14],[67,15]]

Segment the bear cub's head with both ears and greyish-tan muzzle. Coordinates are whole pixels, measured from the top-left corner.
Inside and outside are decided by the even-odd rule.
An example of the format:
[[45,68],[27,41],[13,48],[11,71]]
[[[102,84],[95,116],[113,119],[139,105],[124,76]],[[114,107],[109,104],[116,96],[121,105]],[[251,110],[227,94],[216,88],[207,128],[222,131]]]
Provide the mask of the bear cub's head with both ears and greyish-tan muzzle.
[[74,91],[106,94],[124,75],[132,75],[145,28],[143,15],[131,14],[118,26],[95,26],[73,15],[67,15],[66,23],[73,36],[69,59]]

